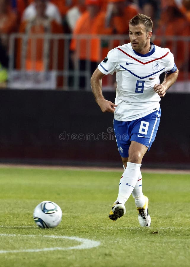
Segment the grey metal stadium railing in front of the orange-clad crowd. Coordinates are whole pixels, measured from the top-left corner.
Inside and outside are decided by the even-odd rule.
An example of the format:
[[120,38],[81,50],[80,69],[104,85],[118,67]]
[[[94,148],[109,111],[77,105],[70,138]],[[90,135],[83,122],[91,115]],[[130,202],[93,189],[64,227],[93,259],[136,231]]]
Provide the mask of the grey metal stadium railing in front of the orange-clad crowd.
[[[86,40],[86,66],[84,70],[79,68],[77,54],[72,54],[70,42],[73,38],[70,34],[20,34],[9,35],[8,54],[9,54],[9,78],[7,87],[18,89],[53,89],[53,90],[81,90],[79,86],[80,77],[85,77],[86,84],[83,90],[90,89],[90,61],[93,51],[90,43],[98,40],[97,51],[99,57],[96,58],[97,65],[112,48],[129,42],[128,35],[76,35],[76,40]],[[41,61],[43,68],[36,70],[33,62],[38,61],[39,54],[38,42],[43,41],[41,47]],[[154,42],[154,37],[152,38]],[[180,75],[178,82],[173,85],[172,92],[190,93],[190,36],[156,36],[156,44],[168,47],[175,57],[176,65],[180,62]],[[28,49],[30,45],[30,50]],[[183,52],[181,47],[183,46]],[[77,44],[77,51],[84,47]],[[30,68],[26,61],[31,60]],[[103,80],[103,90],[115,90],[114,78],[108,75]],[[170,90],[171,92],[171,90]]]

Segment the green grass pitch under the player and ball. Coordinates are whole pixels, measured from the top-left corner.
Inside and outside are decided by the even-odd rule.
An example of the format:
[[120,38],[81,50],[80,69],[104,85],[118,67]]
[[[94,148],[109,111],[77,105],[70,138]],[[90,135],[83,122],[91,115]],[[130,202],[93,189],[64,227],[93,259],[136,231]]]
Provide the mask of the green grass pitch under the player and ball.
[[[126,214],[116,222],[108,220],[121,174],[122,168],[1,167],[0,266],[190,266],[190,175],[143,173],[152,222],[150,228],[141,228],[132,196],[125,204]],[[63,211],[56,228],[40,229],[33,221],[33,209],[44,200],[54,201]],[[100,245],[72,249],[82,244],[80,240],[56,236]],[[44,248],[55,250],[36,252]]]

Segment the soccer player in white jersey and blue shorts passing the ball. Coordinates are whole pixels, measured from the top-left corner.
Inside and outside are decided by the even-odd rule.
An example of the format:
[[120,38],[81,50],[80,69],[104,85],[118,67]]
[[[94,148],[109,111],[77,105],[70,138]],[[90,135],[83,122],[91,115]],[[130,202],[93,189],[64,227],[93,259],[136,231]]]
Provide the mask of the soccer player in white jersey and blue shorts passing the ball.
[[[150,42],[152,20],[138,14],[130,20],[130,43],[116,47],[98,65],[91,86],[95,100],[103,112],[114,113],[114,132],[124,173],[119,193],[109,218],[113,221],[125,214],[125,202],[132,194],[141,226],[150,227],[149,199],[142,192],[140,166],[153,143],[161,116],[160,97],[176,81],[178,69],[173,54]],[[115,103],[104,99],[102,78],[116,72]],[[165,79],[159,84],[159,75]]]

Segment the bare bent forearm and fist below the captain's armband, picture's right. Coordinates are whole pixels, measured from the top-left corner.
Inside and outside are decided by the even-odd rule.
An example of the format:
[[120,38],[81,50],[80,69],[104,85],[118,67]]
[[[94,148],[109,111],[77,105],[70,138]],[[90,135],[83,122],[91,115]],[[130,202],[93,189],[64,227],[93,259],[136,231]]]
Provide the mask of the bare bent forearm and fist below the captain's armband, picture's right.
[[154,85],[154,91],[160,96],[163,97],[166,94],[166,90],[170,88],[171,85],[175,83],[178,78],[178,69],[173,73],[166,73],[164,81],[161,84]]

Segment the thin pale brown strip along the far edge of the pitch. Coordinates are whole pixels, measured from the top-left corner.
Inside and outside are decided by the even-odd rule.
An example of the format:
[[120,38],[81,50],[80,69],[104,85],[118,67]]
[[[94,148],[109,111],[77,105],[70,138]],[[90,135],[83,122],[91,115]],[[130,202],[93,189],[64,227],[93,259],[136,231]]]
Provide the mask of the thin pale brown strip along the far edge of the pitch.
[[[92,170],[92,171],[118,171],[123,172],[123,168],[118,167],[88,167],[88,166],[50,166],[50,165],[25,165],[25,164],[0,164],[0,168],[23,168],[23,169],[48,169],[48,170]],[[179,169],[147,169],[141,168],[142,172],[146,173],[161,173],[161,174],[190,174],[190,170]]]

